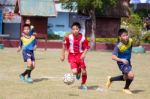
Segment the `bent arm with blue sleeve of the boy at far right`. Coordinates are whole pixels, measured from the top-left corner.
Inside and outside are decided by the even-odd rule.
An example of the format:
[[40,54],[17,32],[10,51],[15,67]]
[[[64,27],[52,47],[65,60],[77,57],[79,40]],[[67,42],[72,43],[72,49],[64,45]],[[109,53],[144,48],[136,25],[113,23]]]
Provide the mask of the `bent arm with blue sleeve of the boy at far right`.
[[121,59],[121,58],[118,57],[118,51],[119,51],[119,49],[118,49],[118,47],[116,46],[116,47],[114,48],[113,52],[112,52],[112,59],[115,60],[115,61],[117,61],[117,62],[123,62],[124,64],[128,64],[128,60],[126,60],[126,59]]

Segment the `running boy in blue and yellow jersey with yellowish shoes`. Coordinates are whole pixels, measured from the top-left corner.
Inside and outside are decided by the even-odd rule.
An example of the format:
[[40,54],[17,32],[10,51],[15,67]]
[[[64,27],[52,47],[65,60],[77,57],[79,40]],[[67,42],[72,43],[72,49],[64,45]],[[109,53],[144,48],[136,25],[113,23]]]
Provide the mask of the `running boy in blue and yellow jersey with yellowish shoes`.
[[118,67],[122,72],[122,75],[116,77],[108,77],[106,87],[109,88],[114,81],[126,81],[123,92],[132,94],[129,89],[130,84],[133,81],[134,73],[131,65],[131,52],[132,52],[132,39],[128,36],[126,29],[120,29],[118,31],[119,42],[116,44],[113,52],[112,59],[117,61]]

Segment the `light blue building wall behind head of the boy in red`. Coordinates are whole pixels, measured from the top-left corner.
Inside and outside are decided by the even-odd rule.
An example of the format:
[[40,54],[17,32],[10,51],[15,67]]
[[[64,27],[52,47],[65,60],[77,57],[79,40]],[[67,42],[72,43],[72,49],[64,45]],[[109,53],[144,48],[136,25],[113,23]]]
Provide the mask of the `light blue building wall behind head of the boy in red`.
[[79,22],[82,27],[80,32],[85,34],[85,20],[86,17],[77,15],[76,13],[58,12],[56,17],[48,18],[48,33],[63,37],[71,31],[70,26],[73,22]]

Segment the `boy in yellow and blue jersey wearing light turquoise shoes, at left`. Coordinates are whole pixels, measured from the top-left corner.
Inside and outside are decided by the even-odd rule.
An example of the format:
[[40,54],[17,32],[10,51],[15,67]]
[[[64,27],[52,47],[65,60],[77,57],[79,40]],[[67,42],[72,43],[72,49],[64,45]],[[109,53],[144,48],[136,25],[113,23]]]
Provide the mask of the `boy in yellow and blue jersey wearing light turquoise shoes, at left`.
[[[37,42],[35,35],[30,35],[30,25],[25,24],[23,26],[23,34],[17,51],[19,52],[22,49],[23,59],[24,62],[27,62],[27,68],[20,74],[20,79],[32,83],[31,71],[35,68],[34,50],[36,49]],[[26,75],[27,79],[25,79]]]

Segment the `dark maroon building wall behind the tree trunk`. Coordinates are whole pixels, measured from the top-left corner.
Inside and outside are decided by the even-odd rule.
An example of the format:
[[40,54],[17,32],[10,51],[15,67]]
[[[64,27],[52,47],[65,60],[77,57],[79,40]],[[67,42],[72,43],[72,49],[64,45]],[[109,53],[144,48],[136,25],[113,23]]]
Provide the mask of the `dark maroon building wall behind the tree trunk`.
[[[96,37],[113,38],[117,37],[117,31],[120,28],[120,18],[97,18],[96,19]],[[86,22],[86,36],[91,34],[91,22]]]

